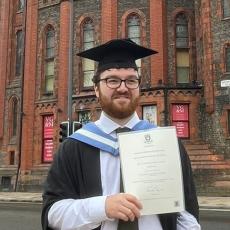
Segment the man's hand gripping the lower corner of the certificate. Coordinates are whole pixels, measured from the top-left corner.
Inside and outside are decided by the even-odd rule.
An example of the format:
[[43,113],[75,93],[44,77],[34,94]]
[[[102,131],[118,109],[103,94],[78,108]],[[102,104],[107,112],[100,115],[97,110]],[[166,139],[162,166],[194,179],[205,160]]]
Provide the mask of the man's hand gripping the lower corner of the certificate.
[[127,193],[108,196],[105,201],[105,212],[109,218],[134,221],[135,217],[140,217],[140,209],[140,201]]

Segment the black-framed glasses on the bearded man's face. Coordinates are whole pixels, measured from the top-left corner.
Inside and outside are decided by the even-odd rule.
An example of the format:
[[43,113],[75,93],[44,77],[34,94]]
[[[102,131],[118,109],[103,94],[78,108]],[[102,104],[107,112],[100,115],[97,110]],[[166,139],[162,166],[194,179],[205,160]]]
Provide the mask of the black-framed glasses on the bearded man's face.
[[124,82],[125,86],[128,89],[137,89],[140,85],[140,78],[128,78],[125,80],[122,80],[120,78],[114,78],[114,77],[108,77],[108,78],[102,78],[98,80],[97,82],[105,81],[107,87],[110,89],[117,89],[121,86],[121,83]]

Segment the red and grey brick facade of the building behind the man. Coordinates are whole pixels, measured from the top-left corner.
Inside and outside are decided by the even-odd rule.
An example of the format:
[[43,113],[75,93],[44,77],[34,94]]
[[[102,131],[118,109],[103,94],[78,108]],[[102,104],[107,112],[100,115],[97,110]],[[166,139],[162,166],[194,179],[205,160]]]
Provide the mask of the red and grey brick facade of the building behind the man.
[[[134,12],[141,18],[142,44],[159,51],[159,54],[146,58],[142,62],[144,84],[140,106],[137,109],[138,114],[142,116],[143,105],[157,105],[158,124],[165,125],[166,109],[169,111],[169,123],[171,122],[170,108],[172,103],[188,103],[190,108],[190,138],[192,140],[202,138],[211,144],[217,152],[225,153],[226,156],[230,157],[230,143],[229,139],[226,139],[224,129],[226,108],[229,106],[229,101],[226,99],[223,89],[220,88],[220,81],[223,77],[227,77],[223,75],[222,43],[229,41],[230,22],[221,18],[221,0],[211,0],[210,5],[207,2],[205,0],[74,1],[74,117],[77,117],[76,112],[83,107],[84,109],[91,109],[92,114],[94,114],[93,119],[95,119],[100,107],[93,90],[82,91],[80,86],[82,81],[81,60],[76,56],[76,53],[82,49],[81,23],[87,17],[93,20],[95,45],[98,45],[112,38],[127,36],[125,30],[126,18]],[[18,16],[13,21],[11,17],[7,17],[7,14],[2,13],[3,8],[4,12],[9,10],[11,12],[9,15],[12,15],[13,6],[6,0],[1,1],[0,5],[0,26],[6,32],[0,34],[0,73],[1,76],[4,76],[0,78],[0,102],[4,104],[0,108],[0,164],[9,160],[8,151],[12,150],[9,140],[1,139],[3,134],[5,137],[8,135],[8,101],[12,95],[21,98],[20,78],[14,79],[13,74],[15,61],[13,47],[15,47],[15,29],[22,26],[22,16],[17,14]],[[180,11],[186,12],[190,16],[189,32],[194,34],[191,46],[197,52],[197,55],[196,52],[192,54],[193,61],[197,64],[191,69],[192,79],[205,82],[205,97],[202,98],[202,91],[199,89],[172,89],[168,91],[168,108],[165,108],[163,90],[156,87],[163,87],[164,84],[176,86],[174,18],[176,13]],[[29,174],[35,173],[36,170],[42,171],[44,177],[44,171],[49,166],[41,162],[42,116],[54,114],[55,149],[58,146],[59,122],[67,117],[69,12],[69,1],[47,0],[45,4],[41,0],[28,1],[22,135],[22,170],[24,170],[24,174],[28,173],[28,175],[24,175],[24,179],[27,181],[33,180],[33,176],[29,178]],[[208,17],[206,17],[206,14]],[[4,23],[2,23],[3,19]],[[44,96],[41,93],[44,75],[43,32],[48,24],[53,26],[56,39],[55,89],[52,96]],[[205,44],[206,41],[208,41],[208,45]],[[8,52],[2,52],[4,47],[7,47]],[[4,55],[7,55],[7,60]],[[7,87],[5,82],[8,84]],[[2,98],[4,98],[4,101]],[[15,151],[17,151],[17,142],[15,141],[13,144]],[[35,173],[34,175],[36,175],[34,180],[39,180],[38,174]]]

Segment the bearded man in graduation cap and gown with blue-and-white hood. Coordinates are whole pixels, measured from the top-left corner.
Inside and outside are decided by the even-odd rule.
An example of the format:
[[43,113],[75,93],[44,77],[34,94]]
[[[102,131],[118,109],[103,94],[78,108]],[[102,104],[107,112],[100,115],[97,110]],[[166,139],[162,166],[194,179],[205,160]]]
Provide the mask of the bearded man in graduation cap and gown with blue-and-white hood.
[[135,112],[140,90],[135,60],[154,53],[129,39],[117,39],[78,54],[98,61],[93,81],[102,114],[60,145],[43,194],[44,230],[200,229],[191,166],[181,142],[186,211],[141,216],[141,202],[120,192],[116,130],[153,128]]

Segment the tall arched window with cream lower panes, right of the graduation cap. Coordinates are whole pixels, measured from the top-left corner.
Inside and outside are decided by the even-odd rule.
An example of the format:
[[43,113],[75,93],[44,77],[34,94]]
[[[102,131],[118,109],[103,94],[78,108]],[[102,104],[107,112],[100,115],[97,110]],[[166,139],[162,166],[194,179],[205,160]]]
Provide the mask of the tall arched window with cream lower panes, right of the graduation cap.
[[185,14],[176,17],[176,73],[177,83],[189,83],[189,34]]

